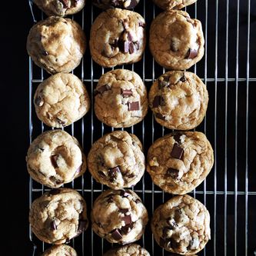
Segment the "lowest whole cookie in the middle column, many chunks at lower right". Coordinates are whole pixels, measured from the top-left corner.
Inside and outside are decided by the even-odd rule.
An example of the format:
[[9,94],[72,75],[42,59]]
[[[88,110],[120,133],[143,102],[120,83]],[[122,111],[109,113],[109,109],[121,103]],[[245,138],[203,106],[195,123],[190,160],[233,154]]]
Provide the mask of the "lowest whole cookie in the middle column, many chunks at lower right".
[[110,243],[129,244],[141,238],[148,211],[134,191],[107,190],[94,202],[91,227]]

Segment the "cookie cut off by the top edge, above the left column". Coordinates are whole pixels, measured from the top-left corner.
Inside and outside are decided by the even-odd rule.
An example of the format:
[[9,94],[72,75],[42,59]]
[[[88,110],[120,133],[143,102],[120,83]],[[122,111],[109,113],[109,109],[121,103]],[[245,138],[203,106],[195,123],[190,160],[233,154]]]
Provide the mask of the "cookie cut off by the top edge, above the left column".
[[85,7],[85,0],[33,0],[48,16],[73,15]]

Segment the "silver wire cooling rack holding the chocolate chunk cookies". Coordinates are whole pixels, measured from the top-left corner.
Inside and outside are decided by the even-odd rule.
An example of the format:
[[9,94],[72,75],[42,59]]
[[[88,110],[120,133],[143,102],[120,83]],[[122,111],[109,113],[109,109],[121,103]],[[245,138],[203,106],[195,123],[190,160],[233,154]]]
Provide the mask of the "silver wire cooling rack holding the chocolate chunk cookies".
[[[32,18],[39,21],[46,18],[38,8],[28,1]],[[214,167],[208,178],[190,194],[198,198],[211,214],[211,241],[198,255],[255,255],[256,228],[256,175],[255,159],[251,141],[255,141],[252,130],[252,108],[254,101],[253,88],[256,86],[256,72],[250,66],[255,66],[255,39],[250,32],[255,16],[252,13],[254,3],[250,0],[198,0],[194,5],[186,8],[191,18],[198,18],[202,22],[205,38],[204,58],[191,68],[207,85],[209,92],[209,104],[207,115],[197,131],[203,131],[207,135],[214,148]],[[101,12],[98,8],[86,3],[85,9],[71,16],[85,30],[87,38],[91,24]],[[135,8],[149,26],[155,15],[161,12],[151,0],[141,0]],[[33,25],[33,24],[31,24]],[[255,27],[254,27],[255,28]],[[88,40],[87,40],[88,41]],[[253,42],[254,41],[254,42]],[[250,50],[251,49],[251,50]],[[254,58],[251,58],[251,55]],[[149,89],[152,82],[165,72],[146,48],[141,62],[134,65],[125,65],[116,68],[127,68],[136,71]],[[74,74],[84,81],[91,97],[91,111],[80,121],[65,128],[71,135],[80,141],[88,155],[91,144],[105,133],[114,131],[103,125],[94,115],[93,90],[98,79],[109,68],[101,68],[92,61],[89,49]],[[48,74],[33,64],[29,59],[29,140],[30,143],[40,133],[49,128],[43,125],[35,115],[33,96],[35,88]],[[254,76],[253,76],[254,75]],[[170,130],[158,125],[148,111],[146,118],[138,125],[125,128],[126,131],[135,133],[144,145],[145,154],[149,146]],[[105,186],[95,182],[89,172],[81,178],[75,179],[68,185],[79,191],[88,204],[88,215],[95,198],[106,189]],[[151,182],[147,173],[133,188],[142,198],[148,209],[149,217],[155,208],[171,198]],[[29,204],[35,198],[41,196],[48,188],[37,182],[29,182]],[[29,228],[30,240],[35,244],[37,254],[48,248],[48,244],[39,241],[31,228]],[[155,243],[148,224],[145,234],[140,241],[151,255],[168,255]],[[72,239],[71,246],[79,255],[101,255],[111,248],[111,244],[99,238],[93,233],[91,227],[78,238]]]

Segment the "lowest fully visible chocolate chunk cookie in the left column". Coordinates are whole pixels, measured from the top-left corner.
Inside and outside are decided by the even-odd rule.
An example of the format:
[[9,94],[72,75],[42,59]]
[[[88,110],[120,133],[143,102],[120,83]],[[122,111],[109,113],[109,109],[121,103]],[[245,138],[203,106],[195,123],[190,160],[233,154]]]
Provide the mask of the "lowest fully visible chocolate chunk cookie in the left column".
[[56,188],[32,202],[32,232],[48,244],[64,244],[88,228],[86,203],[71,188]]

